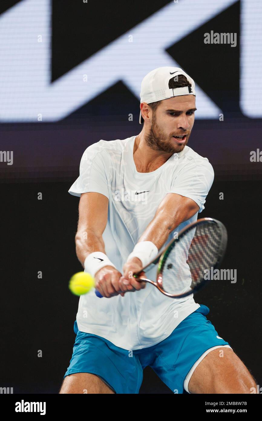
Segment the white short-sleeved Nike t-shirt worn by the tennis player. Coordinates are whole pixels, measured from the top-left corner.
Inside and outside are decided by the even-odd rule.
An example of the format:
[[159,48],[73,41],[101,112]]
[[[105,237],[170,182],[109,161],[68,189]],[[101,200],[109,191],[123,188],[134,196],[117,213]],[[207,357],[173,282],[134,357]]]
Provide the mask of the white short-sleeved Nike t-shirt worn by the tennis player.
[[[80,175],[69,189],[75,196],[98,192],[108,197],[108,221],[102,237],[106,255],[121,273],[165,195],[189,197],[201,212],[214,180],[207,158],[188,146],[157,170],[139,173],[133,160],[135,138],[100,140],[89,146],[81,159]],[[174,232],[196,221],[197,216],[198,212],[176,227],[161,250]],[[146,272],[146,276],[156,281],[156,268]],[[102,336],[123,349],[142,349],[167,338],[199,306],[192,295],[169,298],[149,283],[143,290],[127,292],[124,297],[98,298],[93,289],[80,296],[77,325],[82,332]]]

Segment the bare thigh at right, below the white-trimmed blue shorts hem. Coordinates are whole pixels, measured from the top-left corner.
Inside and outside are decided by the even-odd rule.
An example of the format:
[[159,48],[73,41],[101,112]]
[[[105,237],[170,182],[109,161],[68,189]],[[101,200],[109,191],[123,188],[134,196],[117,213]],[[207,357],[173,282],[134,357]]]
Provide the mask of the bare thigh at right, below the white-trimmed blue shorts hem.
[[188,383],[190,393],[251,393],[256,382],[231,348],[210,351],[196,366]]

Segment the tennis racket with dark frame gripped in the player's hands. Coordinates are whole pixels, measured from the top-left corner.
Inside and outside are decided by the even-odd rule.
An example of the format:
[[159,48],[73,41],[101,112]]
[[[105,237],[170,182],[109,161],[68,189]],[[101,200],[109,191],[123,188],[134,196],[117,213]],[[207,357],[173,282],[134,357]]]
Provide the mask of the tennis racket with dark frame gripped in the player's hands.
[[[171,240],[164,250],[141,271],[133,274],[139,282],[149,282],[171,298],[183,298],[210,282],[208,272],[218,269],[225,255],[228,234],[222,222],[201,218],[188,224]],[[156,282],[145,278],[156,266]],[[209,272],[210,273],[210,272]],[[95,291],[102,297],[99,291]]]

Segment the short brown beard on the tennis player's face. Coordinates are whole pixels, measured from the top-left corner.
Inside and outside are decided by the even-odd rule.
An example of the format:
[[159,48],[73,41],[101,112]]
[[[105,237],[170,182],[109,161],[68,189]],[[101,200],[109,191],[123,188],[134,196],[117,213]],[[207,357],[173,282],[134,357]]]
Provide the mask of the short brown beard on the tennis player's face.
[[169,154],[174,154],[177,152],[183,151],[185,145],[188,144],[188,139],[190,137],[189,133],[175,133],[177,136],[187,135],[187,139],[183,144],[175,144],[172,140],[167,140],[167,134],[159,128],[159,125],[156,123],[156,115],[152,116],[152,123],[150,132],[145,136],[145,141],[148,147],[154,151],[163,151]]

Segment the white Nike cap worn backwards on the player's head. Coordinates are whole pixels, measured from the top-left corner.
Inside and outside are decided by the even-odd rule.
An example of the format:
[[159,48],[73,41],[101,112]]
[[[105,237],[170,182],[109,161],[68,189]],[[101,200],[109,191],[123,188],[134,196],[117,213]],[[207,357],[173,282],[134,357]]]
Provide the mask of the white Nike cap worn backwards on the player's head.
[[[185,86],[184,88],[169,88],[168,83],[172,77],[178,75],[184,75],[191,86]],[[172,98],[172,96],[180,95],[195,95],[195,82],[193,79],[183,72],[180,67],[158,67],[158,69],[151,70],[142,80],[141,92],[140,92],[140,104],[146,102],[161,101],[162,99]],[[141,122],[141,110],[139,116],[139,123]]]

